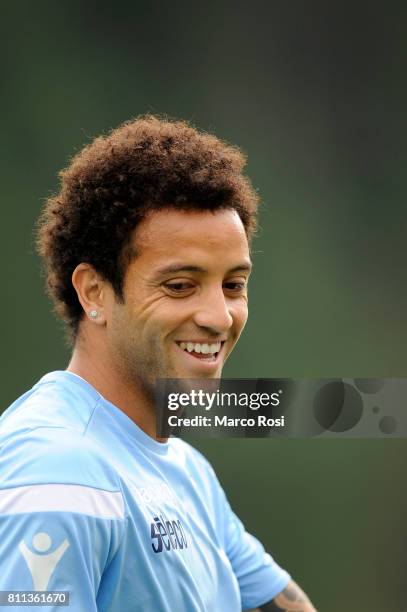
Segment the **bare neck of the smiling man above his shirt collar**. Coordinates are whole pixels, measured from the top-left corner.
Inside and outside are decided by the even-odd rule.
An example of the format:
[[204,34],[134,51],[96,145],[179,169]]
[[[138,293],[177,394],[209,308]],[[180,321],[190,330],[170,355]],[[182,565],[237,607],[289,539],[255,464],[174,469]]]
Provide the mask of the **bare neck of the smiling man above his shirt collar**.
[[[157,439],[154,406],[141,388],[124,380],[107,355],[90,350],[85,344],[77,342],[67,371],[86,380],[147,435]],[[159,441],[165,442],[166,439],[159,438]]]

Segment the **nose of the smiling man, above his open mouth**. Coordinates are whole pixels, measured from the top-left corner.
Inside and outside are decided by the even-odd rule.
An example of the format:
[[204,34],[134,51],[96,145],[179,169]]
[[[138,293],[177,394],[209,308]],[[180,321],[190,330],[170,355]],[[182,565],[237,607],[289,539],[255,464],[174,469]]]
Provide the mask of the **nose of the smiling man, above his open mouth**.
[[194,321],[199,327],[210,329],[213,334],[225,333],[232,327],[233,316],[223,288],[201,294]]

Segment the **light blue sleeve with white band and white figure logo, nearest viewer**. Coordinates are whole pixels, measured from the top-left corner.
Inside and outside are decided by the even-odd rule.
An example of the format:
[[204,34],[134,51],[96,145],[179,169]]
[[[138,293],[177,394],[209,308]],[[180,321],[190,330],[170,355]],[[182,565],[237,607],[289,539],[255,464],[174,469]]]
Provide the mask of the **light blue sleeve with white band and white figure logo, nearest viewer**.
[[0,591],[69,593],[69,607],[36,610],[107,609],[99,599],[120,557],[125,504],[98,449],[72,432],[29,432],[3,445],[0,474]]

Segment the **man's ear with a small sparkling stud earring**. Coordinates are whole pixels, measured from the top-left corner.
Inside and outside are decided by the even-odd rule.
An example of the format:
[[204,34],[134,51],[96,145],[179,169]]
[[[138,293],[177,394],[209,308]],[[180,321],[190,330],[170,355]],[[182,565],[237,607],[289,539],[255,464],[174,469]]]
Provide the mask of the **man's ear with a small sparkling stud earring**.
[[106,324],[106,281],[88,263],[80,263],[72,273],[72,285],[86,317],[98,324]]

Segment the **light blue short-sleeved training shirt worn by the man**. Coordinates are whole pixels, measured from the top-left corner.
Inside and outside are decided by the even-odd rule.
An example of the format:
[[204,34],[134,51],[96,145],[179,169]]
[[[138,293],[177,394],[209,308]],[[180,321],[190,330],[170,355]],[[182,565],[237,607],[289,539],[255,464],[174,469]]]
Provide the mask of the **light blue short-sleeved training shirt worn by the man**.
[[289,579],[198,451],[79,376],[47,374],[0,418],[0,590],[69,591],[38,610],[238,612]]

